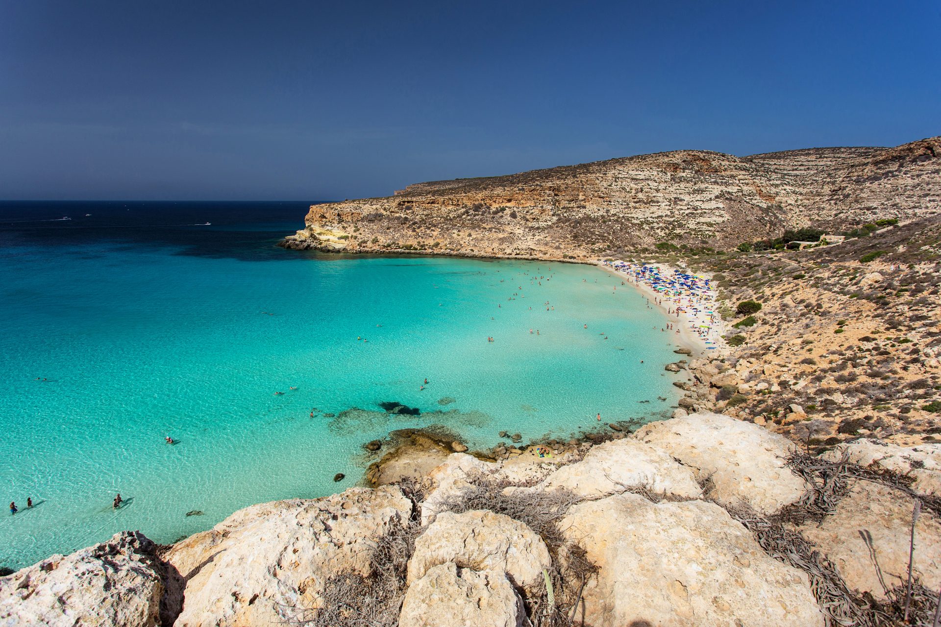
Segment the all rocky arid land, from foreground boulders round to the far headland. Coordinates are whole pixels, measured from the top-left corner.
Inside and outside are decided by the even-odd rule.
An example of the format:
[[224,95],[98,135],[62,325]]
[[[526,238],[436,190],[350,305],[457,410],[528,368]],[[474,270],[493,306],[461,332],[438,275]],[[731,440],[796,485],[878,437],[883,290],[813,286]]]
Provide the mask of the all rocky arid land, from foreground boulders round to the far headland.
[[393,432],[362,487],[0,577],[0,625],[937,624],[941,138],[421,183],[284,245],[683,268],[724,345],[677,350],[670,419]]

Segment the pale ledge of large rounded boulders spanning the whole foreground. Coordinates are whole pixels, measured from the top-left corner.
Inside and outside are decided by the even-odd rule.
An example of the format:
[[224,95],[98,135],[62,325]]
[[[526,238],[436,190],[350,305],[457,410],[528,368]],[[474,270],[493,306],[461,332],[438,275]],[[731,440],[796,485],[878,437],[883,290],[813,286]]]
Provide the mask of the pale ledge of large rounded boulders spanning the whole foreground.
[[124,532],[50,557],[0,578],[0,624],[869,624],[899,604],[916,494],[921,616],[941,586],[941,469],[875,447],[795,456],[701,413],[579,455],[448,453],[421,481],[255,505],[169,547]]

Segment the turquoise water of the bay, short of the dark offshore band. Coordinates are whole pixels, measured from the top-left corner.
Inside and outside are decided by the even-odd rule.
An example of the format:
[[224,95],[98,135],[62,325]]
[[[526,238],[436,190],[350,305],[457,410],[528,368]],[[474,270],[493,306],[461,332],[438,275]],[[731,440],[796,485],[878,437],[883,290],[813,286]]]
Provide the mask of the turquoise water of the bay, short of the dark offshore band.
[[251,225],[211,228],[176,244],[3,240],[0,486],[21,512],[0,515],[0,565],[337,492],[362,476],[360,445],[393,429],[445,425],[484,447],[502,430],[592,429],[597,413],[657,418],[676,399],[662,314],[594,267],[317,257],[243,236],[226,254]]

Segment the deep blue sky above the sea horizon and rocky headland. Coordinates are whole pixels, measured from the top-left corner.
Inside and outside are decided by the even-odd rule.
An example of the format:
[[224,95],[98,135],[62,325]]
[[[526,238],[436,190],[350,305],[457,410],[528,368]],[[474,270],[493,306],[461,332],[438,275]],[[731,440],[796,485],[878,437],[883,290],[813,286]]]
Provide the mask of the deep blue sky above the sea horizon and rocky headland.
[[0,3],[0,198],[343,199],[941,134],[941,3]]

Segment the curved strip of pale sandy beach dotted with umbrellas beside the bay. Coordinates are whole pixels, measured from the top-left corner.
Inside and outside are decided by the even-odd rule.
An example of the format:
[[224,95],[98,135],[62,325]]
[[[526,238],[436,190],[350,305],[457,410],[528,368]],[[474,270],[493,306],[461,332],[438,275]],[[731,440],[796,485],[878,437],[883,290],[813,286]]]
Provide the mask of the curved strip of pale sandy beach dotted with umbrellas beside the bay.
[[[657,290],[657,282],[640,280],[636,274],[646,267],[648,271],[656,269],[661,277],[673,277],[683,274],[684,271],[663,263],[634,263],[630,261],[598,261],[599,268],[620,276],[624,281],[639,290],[650,299],[652,305],[660,307],[663,314],[670,321],[676,321],[675,341],[681,348],[693,351],[694,356],[703,356],[710,353],[718,356],[727,352],[727,346],[722,336],[726,333],[726,324],[722,321],[715,307],[715,292],[709,287],[701,286],[692,290],[688,287],[676,286],[670,296]],[[701,279],[710,279],[710,276],[697,275]],[[704,281],[705,283],[705,281]],[[680,311],[677,312],[677,307]],[[713,312],[713,313],[710,313]]]

